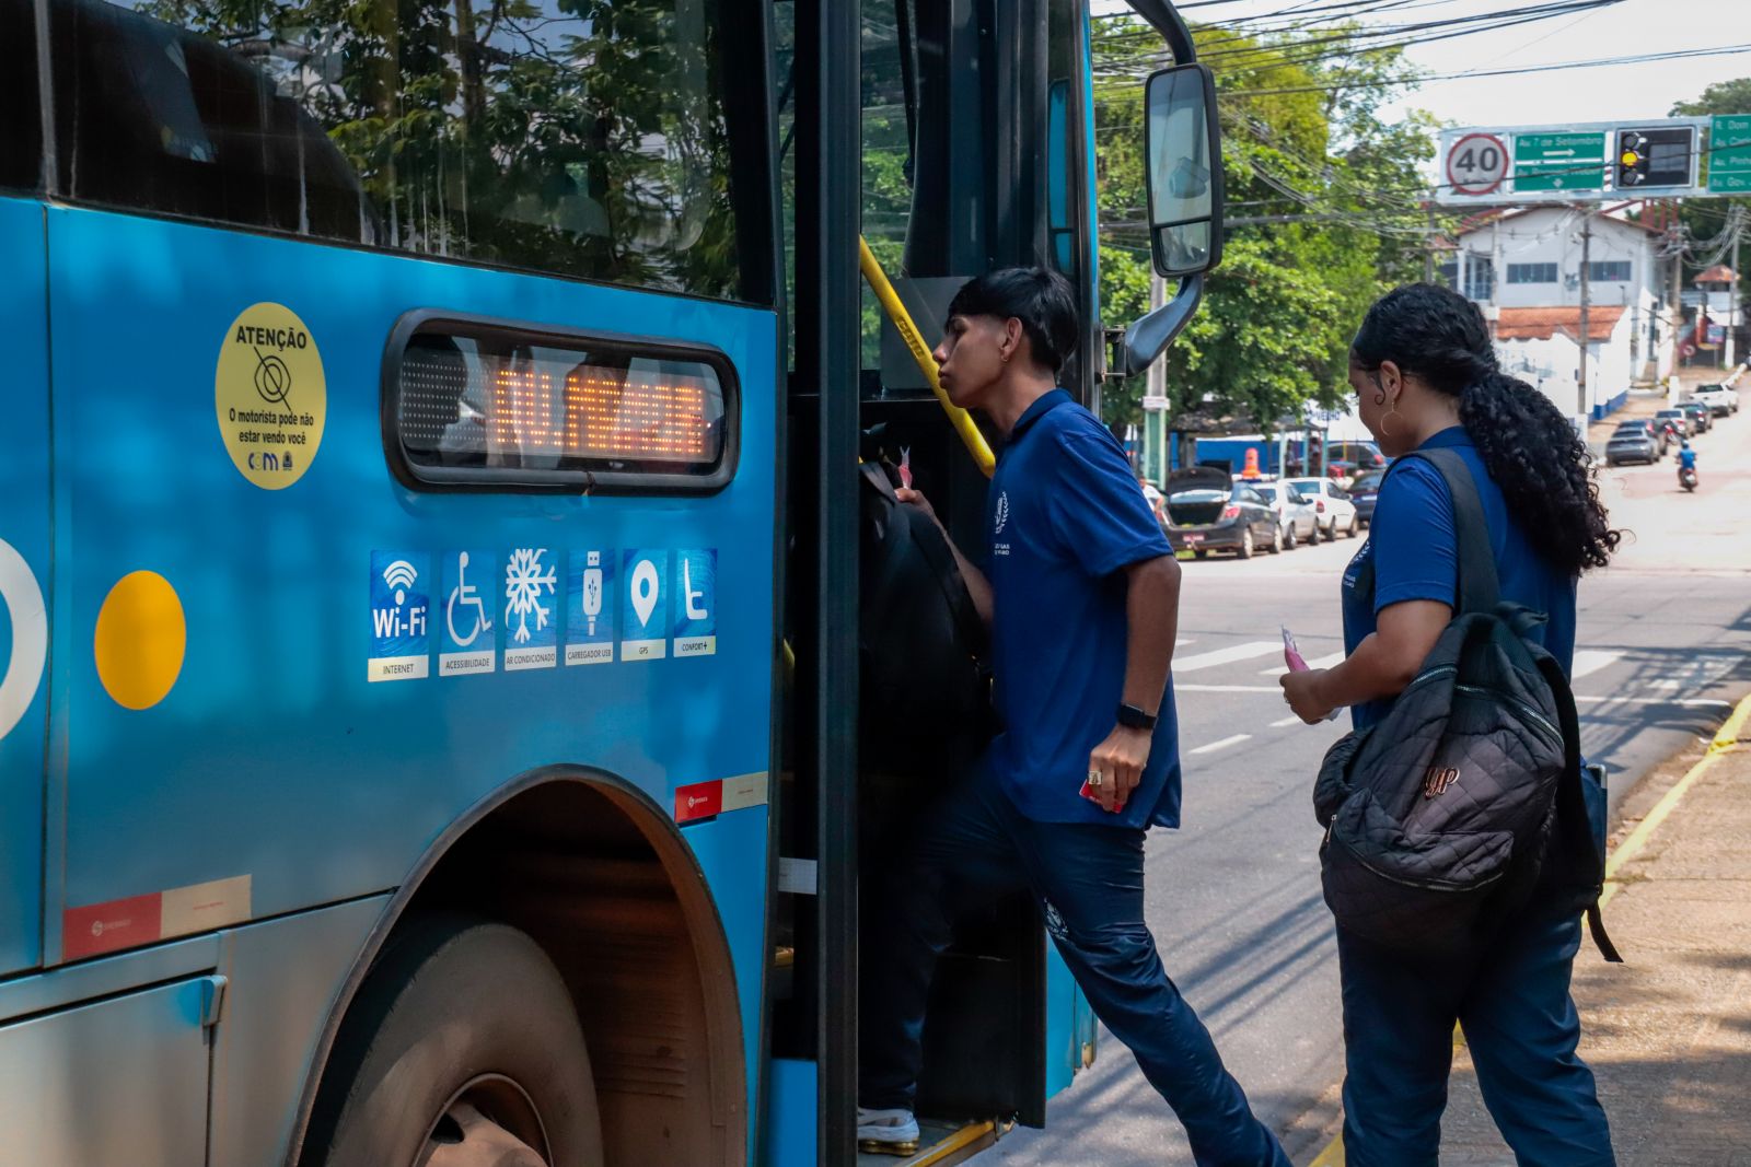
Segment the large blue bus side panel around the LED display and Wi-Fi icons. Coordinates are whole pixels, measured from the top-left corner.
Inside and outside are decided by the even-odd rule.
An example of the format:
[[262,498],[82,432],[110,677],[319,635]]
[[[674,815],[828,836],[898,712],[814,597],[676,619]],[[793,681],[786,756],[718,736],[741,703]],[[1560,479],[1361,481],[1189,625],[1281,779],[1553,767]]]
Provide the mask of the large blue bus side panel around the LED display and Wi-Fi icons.
[[[56,506],[74,546],[58,586],[75,656],[91,660],[98,612],[130,572],[161,574],[186,623],[180,670],[156,703],[124,707],[91,668],[70,677],[56,717],[77,731],[53,775],[67,828],[49,836],[65,852],[51,929],[67,922],[67,934],[51,933],[51,952],[81,952],[88,920],[107,924],[131,903],[163,905],[168,933],[172,901],[180,926],[203,906],[196,927],[228,926],[394,887],[468,807],[550,765],[606,770],[662,807],[718,779],[758,775],[765,789],[770,311],[75,208],[49,212],[49,238],[54,441],[68,455]],[[215,402],[221,348],[257,304],[282,308],[270,324],[296,313],[326,380],[326,401],[303,383],[287,392],[299,409],[322,404],[326,420],[280,490],[233,465]],[[706,497],[406,488],[383,450],[380,381],[390,331],[418,308],[714,345],[741,381],[734,479]],[[555,567],[585,549],[660,563],[714,549],[714,593],[700,602],[714,605],[716,653],[506,670],[518,619],[499,600],[494,670],[440,675],[443,567],[461,549],[496,560],[487,597],[504,595],[515,549]],[[425,607],[425,677],[368,679],[373,588],[383,590],[373,563],[385,553],[417,574],[396,604]],[[541,597],[562,635],[566,576]],[[674,612],[679,591],[676,570],[664,591]],[[166,651],[166,637],[145,644]],[[133,660],[158,667],[144,656]],[[735,887],[765,885],[758,835],[727,877]],[[744,975],[758,985],[758,966]]]

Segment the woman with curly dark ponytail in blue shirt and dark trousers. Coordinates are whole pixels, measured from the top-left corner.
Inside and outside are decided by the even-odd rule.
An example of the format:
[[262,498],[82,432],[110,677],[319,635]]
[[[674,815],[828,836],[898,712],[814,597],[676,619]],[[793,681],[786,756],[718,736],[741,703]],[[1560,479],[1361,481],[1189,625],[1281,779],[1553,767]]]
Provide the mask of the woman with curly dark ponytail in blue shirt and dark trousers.
[[[1389,457],[1457,451],[1478,486],[1504,600],[1544,612],[1544,647],[1569,670],[1576,581],[1618,546],[1592,458],[1539,390],[1495,366],[1476,304],[1429,283],[1380,297],[1350,348],[1362,423]],[[1373,560],[1373,593],[1359,570]],[[1350,707],[1378,723],[1417,675],[1457,607],[1459,539],[1439,471],[1413,458],[1387,474],[1369,539],[1343,577],[1347,656],[1289,674],[1306,723]],[[1546,901],[1546,903],[1541,903]],[[1534,894],[1473,957],[1408,959],[1338,929],[1343,982],[1343,1144],[1350,1167],[1436,1164],[1464,1027],[1485,1106],[1522,1165],[1613,1164],[1593,1073],[1576,1057],[1569,975],[1579,915]]]

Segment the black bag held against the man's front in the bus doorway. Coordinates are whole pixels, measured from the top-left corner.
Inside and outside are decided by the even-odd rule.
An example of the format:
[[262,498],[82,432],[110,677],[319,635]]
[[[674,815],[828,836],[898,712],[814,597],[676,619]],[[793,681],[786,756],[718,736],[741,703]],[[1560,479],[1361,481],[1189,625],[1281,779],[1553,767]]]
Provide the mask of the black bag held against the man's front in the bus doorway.
[[947,539],[888,474],[860,467],[858,745],[874,836],[967,773],[993,731],[984,621]]

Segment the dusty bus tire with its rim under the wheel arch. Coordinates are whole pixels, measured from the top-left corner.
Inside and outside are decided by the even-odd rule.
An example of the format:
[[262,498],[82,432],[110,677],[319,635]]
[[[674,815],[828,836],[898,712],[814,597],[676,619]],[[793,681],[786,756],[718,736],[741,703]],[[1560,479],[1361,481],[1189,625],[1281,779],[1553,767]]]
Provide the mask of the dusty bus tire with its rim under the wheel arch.
[[354,997],[299,1167],[452,1158],[601,1167],[602,1122],[578,1011],[546,952],[504,924],[432,915],[389,940]]

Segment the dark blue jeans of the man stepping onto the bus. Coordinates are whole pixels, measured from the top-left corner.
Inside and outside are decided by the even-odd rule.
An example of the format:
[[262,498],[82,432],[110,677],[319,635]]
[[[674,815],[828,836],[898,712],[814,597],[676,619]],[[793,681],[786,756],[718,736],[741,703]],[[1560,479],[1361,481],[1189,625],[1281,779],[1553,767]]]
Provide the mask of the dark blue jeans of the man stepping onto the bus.
[[1289,1167],[1143,924],[1143,831],[1033,822],[979,766],[863,894],[858,1101],[912,1108],[925,1001],[956,917],[1030,889],[1096,1017],[1136,1053],[1198,1164]]

